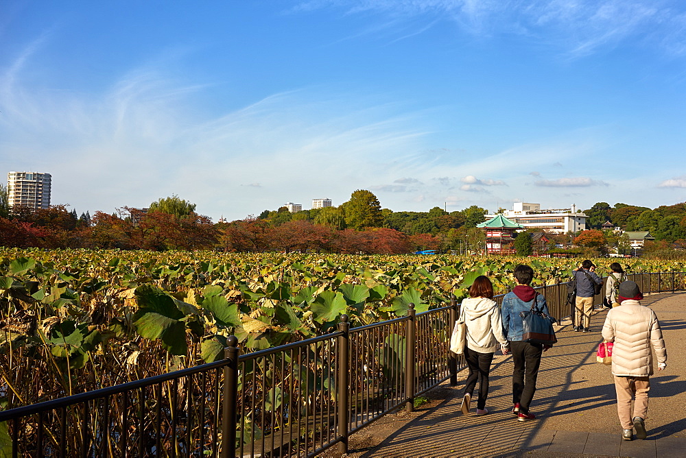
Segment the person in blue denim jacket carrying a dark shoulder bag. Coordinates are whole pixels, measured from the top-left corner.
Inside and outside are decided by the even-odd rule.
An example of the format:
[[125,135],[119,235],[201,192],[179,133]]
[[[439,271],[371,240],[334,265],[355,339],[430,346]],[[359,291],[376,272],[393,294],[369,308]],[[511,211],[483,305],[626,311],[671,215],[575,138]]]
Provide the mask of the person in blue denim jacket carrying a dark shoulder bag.
[[524,333],[523,318],[520,312],[528,312],[536,300],[536,308],[548,314],[548,306],[545,298],[536,293],[531,280],[534,279],[534,269],[528,265],[520,264],[514,267],[514,278],[517,287],[503,298],[502,317],[503,332],[510,342],[510,352],[514,362],[512,373],[512,413],[517,415],[517,420],[525,422],[534,420],[536,415],[530,413],[529,405],[536,391],[536,377],[539,375],[541,354],[549,347],[541,343],[530,343],[521,340]]

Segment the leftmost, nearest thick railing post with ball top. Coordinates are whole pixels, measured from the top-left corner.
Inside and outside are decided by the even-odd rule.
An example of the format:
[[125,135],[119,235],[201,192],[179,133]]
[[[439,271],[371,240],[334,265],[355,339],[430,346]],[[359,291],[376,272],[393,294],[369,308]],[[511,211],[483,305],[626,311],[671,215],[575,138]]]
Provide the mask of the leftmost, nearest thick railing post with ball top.
[[230,335],[224,348],[224,393],[222,394],[222,458],[236,456],[236,405],[238,402],[238,339]]

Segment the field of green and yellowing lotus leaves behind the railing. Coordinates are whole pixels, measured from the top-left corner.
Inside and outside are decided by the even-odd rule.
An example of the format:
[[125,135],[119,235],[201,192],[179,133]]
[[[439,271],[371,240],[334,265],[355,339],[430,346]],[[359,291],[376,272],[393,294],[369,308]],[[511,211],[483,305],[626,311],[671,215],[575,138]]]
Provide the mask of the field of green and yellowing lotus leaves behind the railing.
[[[598,259],[599,272],[613,260]],[[499,292],[528,263],[536,284],[574,259],[224,254],[0,248],[3,408],[125,383],[244,352],[444,305],[479,275]],[[683,272],[632,259],[628,272]]]

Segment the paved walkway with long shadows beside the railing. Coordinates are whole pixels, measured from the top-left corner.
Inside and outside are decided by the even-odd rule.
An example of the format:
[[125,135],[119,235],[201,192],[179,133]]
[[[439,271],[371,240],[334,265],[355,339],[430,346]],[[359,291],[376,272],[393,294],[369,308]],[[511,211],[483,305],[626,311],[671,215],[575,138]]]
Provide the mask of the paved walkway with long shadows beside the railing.
[[[686,294],[643,301],[656,311],[667,345],[667,370],[650,378],[648,438],[623,441],[610,367],[595,362],[606,311],[593,315],[591,333],[571,324],[543,354],[531,411],[518,422],[512,407],[512,358],[497,356],[490,378],[489,415],[462,415],[464,371],[456,387],[445,385],[436,407],[405,422],[362,457],[686,457]],[[565,323],[563,322],[563,325]],[[475,404],[475,402],[473,402]],[[371,426],[372,428],[374,426]],[[354,453],[354,450],[350,450]]]

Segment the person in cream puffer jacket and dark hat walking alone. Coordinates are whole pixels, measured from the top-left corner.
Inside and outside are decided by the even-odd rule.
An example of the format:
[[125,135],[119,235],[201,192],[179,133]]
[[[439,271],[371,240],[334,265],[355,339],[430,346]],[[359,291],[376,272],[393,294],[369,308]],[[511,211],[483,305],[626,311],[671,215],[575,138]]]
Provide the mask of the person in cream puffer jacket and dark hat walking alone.
[[[622,439],[646,438],[644,420],[648,413],[649,377],[653,373],[652,352],[657,355],[658,369],[667,366],[667,350],[657,315],[652,309],[641,305],[643,294],[638,285],[624,281],[619,285],[617,302],[621,307],[611,309],[602,327],[602,337],[614,342],[612,350],[612,374],[617,391],[617,415],[622,424]],[[631,400],[634,409],[631,411]]]

